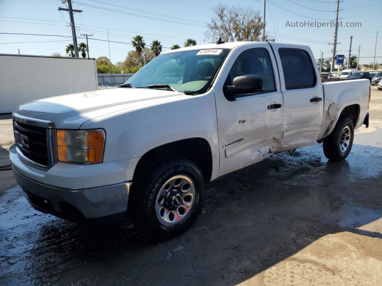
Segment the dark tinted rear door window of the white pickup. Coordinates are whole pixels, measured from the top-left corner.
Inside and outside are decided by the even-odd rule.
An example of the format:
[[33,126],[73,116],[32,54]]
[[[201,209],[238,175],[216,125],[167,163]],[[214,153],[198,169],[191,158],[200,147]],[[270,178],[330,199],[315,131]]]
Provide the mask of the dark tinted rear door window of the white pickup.
[[279,48],[278,53],[287,90],[316,86],[316,72],[307,51],[295,48]]

